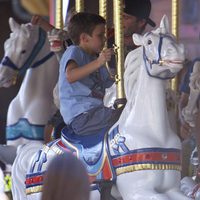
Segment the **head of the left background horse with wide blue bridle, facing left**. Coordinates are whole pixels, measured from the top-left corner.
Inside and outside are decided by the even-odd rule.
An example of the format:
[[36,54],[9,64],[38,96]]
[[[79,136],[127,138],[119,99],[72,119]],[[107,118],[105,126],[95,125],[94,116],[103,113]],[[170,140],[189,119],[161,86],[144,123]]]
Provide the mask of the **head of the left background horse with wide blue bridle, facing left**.
[[9,26],[11,34],[4,43],[4,57],[0,63],[0,87],[10,87],[18,74],[33,67],[32,62],[46,40],[46,33],[30,23],[19,25],[10,18]]

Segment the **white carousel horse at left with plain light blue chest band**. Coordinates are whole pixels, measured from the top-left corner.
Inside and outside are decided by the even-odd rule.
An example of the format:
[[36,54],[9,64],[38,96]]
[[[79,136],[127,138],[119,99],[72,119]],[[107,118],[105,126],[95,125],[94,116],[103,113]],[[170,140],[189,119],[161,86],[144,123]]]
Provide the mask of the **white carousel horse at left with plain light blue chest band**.
[[46,32],[30,23],[19,25],[9,19],[10,38],[4,44],[0,63],[0,87],[10,87],[18,74],[26,72],[17,96],[8,108],[8,145],[43,141],[44,126],[54,114],[53,89],[59,64]]

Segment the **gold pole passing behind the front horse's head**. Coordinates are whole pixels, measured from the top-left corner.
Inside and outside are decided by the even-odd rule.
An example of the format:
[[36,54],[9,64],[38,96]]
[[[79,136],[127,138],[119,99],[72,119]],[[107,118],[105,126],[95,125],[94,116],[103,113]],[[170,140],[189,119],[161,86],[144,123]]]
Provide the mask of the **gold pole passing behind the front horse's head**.
[[[172,34],[179,40],[179,7],[180,0],[172,0]],[[177,91],[178,79],[177,77],[171,80],[171,89]]]

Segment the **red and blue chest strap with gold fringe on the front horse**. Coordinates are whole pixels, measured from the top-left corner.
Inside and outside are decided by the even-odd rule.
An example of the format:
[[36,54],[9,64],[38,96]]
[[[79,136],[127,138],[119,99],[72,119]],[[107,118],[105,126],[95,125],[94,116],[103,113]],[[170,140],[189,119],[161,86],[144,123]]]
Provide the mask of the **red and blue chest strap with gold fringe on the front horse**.
[[138,170],[181,170],[181,153],[174,148],[144,148],[113,156],[117,175]]

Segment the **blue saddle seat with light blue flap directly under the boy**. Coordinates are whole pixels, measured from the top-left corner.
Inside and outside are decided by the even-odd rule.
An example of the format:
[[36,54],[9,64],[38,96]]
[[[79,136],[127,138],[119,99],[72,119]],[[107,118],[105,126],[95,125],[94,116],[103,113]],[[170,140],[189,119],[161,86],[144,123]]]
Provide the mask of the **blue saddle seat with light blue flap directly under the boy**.
[[98,168],[103,161],[106,132],[106,129],[102,129],[96,134],[80,136],[75,134],[69,127],[65,127],[62,130],[61,138],[67,148],[76,149],[78,155],[82,157],[80,159],[88,167],[91,166],[94,169],[94,165],[97,165]]

